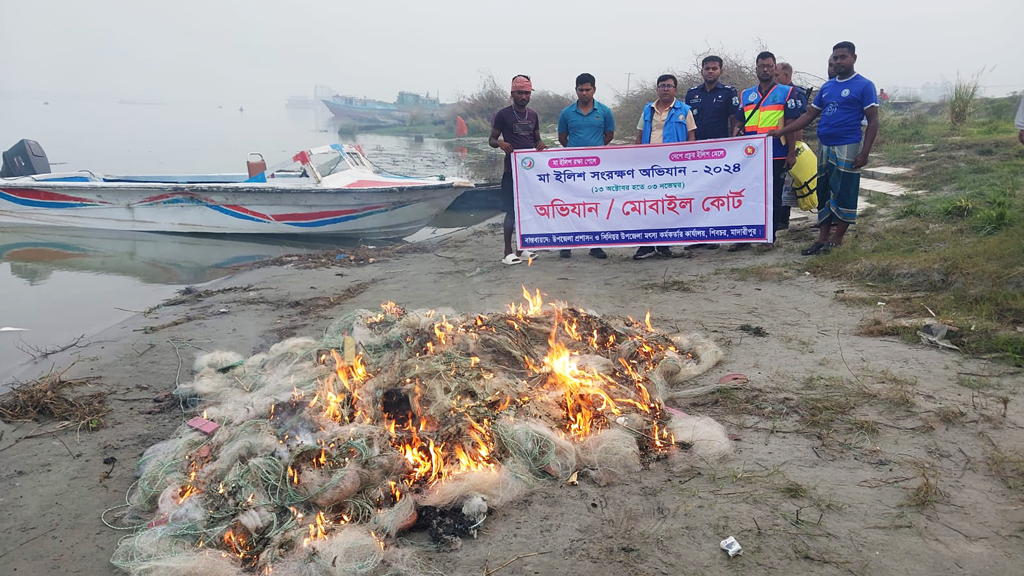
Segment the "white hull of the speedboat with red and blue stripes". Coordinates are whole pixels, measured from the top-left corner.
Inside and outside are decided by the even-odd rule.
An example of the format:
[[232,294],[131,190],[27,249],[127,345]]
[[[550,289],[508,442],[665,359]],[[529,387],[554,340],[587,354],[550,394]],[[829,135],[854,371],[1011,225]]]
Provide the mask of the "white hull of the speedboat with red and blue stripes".
[[[57,187],[0,182],[0,222],[133,232],[408,236],[464,188],[303,192],[231,184]],[[248,190],[246,190],[248,189]]]

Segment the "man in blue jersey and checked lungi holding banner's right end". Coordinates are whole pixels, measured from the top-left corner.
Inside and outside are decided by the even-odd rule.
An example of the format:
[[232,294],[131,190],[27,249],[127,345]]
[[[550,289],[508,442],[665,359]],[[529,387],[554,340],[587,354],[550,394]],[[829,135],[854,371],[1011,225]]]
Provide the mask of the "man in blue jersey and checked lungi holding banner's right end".
[[[828,253],[843,243],[843,236],[857,219],[860,169],[879,133],[879,100],[874,84],[857,74],[857,51],[853,42],[833,46],[836,78],[821,86],[807,113],[771,136],[803,130],[818,116],[818,239],[801,253]],[[861,132],[861,120],[867,130]],[[831,227],[835,225],[835,231]]]

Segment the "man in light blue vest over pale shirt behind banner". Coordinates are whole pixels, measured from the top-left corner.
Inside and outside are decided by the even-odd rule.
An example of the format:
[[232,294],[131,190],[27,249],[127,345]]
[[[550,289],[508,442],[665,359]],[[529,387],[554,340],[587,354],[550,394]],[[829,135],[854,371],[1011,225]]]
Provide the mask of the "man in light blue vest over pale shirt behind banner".
[[[696,139],[697,123],[690,107],[676,99],[679,82],[671,74],[657,77],[657,99],[643,107],[637,123],[636,143],[685,142]],[[641,246],[633,254],[634,260],[649,258],[654,254],[672,257],[668,246]]]

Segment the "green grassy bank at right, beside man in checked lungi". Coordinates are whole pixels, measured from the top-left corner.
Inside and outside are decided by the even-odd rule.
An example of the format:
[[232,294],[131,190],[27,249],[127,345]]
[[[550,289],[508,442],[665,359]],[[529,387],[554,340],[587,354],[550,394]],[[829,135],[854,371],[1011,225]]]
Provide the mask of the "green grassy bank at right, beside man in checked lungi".
[[881,209],[858,222],[856,237],[812,259],[810,270],[889,292],[887,310],[897,316],[934,312],[959,329],[952,342],[968,354],[1024,365],[1019,97],[980,99],[958,126],[938,115],[883,111],[876,152],[885,164],[912,168],[898,181],[925,193],[879,199]]

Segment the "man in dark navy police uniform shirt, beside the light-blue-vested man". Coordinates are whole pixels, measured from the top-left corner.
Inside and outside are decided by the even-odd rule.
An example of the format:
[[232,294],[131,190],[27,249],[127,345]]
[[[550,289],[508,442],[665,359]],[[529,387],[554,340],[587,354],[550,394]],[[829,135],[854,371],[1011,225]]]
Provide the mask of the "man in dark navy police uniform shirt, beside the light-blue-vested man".
[[[683,98],[697,121],[696,137],[698,140],[728,138],[736,135],[739,122],[736,111],[739,110],[739,93],[736,89],[718,80],[722,77],[724,63],[719,56],[706,56],[700,61],[700,76],[703,84],[686,91]],[[718,244],[690,244],[685,250],[703,246],[709,250],[718,248]]]

